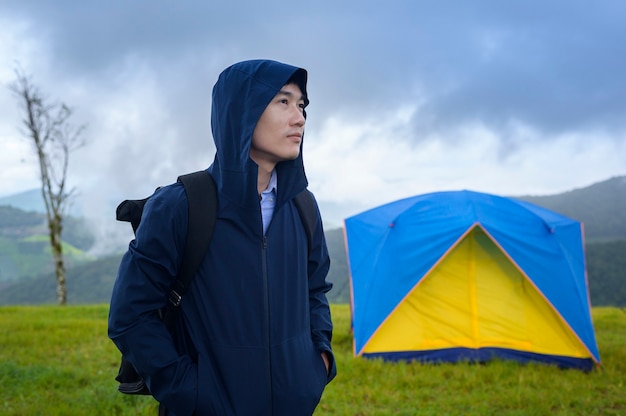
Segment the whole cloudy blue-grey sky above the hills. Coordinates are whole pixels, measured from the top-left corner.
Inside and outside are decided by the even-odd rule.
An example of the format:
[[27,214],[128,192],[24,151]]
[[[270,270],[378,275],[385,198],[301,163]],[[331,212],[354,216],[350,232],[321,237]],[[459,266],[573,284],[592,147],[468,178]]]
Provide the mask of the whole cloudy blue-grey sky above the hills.
[[75,109],[90,212],[208,166],[228,65],[309,71],[304,157],[327,222],[470,189],[545,195],[626,175],[626,2],[0,1],[0,196],[36,188],[6,86]]

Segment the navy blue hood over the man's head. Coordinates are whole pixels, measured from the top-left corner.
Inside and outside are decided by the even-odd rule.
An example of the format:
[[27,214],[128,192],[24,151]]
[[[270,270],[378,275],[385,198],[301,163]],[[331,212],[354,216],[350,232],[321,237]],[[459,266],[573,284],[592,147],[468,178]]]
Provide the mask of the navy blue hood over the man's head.
[[[213,87],[211,129],[217,151],[209,172],[220,195],[237,205],[256,207],[259,204],[258,167],[249,156],[252,133],[272,98],[295,73],[307,97],[306,70],[270,60],[234,64],[220,74]],[[307,186],[302,143],[298,158],[278,163],[276,173],[278,207]]]

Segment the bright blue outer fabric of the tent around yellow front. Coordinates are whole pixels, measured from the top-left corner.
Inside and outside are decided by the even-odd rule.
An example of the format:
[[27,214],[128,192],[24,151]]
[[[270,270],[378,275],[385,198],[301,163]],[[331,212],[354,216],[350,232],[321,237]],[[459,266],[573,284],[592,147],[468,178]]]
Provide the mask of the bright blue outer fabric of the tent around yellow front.
[[419,195],[345,220],[356,351],[476,224],[494,238],[599,362],[581,224],[527,202],[472,191]]

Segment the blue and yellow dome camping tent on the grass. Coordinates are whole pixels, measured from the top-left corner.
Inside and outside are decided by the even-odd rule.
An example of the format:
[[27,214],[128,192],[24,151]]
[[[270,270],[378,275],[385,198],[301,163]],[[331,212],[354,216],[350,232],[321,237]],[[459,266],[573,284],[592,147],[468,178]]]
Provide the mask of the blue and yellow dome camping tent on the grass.
[[579,222],[456,191],[352,216],[345,233],[355,355],[599,364]]

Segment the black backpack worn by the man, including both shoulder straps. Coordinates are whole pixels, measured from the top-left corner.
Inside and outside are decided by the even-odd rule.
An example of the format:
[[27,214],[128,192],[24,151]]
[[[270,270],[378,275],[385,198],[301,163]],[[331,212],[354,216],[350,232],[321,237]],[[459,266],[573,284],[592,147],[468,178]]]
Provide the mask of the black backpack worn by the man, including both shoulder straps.
[[[181,175],[178,177],[178,182],[183,184],[187,194],[189,222],[181,269],[168,293],[167,306],[159,311],[159,316],[170,332],[173,330],[174,318],[180,302],[209,247],[217,218],[217,189],[208,171],[202,170]],[[123,201],[117,207],[116,219],[129,222],[133,227],[133,232],[136,232],[141,222],[143,208],[149,199],[150,197]],[[317,220],[317,204],[308,189],[298,194],[294,202],[304,225],[310,250]],[[115,380],[119,383],[118,390],[121,393],[151,394],[143,378],[123,355]]]

